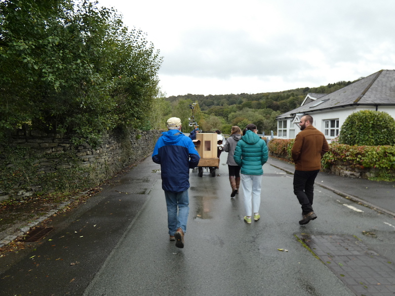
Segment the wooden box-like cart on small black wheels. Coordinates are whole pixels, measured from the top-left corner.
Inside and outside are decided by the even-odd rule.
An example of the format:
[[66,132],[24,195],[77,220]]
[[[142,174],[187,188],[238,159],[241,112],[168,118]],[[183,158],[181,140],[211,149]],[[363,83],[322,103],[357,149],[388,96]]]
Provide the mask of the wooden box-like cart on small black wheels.
[[215,170],[219,166],[217,157],[217,134],[216,133],[197,133],[196,140],[193,141],[200,160],[197,164],[198,176],[203,176],[203,168],[210,171],[212,177],[215,177]]

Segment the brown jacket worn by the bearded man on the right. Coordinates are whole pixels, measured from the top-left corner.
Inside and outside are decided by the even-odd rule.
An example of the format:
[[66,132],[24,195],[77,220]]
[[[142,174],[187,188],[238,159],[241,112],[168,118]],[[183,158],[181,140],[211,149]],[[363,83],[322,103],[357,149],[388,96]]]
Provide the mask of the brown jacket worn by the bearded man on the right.
[[321,169],[321,157],[329,151],[325,136],[314,126],[309,125],[296,135],[292,147],[295,170],[315,171]]

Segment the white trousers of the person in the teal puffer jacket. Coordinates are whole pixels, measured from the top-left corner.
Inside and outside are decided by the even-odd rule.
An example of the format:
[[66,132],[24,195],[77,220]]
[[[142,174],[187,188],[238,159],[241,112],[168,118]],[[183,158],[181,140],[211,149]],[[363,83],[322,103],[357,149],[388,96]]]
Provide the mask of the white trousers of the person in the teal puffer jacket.
[[240,174],[240,179],[241,189],[244,195],[246,216],[252,216],[252,213],[259,213],[259,207],[261,206],[262,175]]

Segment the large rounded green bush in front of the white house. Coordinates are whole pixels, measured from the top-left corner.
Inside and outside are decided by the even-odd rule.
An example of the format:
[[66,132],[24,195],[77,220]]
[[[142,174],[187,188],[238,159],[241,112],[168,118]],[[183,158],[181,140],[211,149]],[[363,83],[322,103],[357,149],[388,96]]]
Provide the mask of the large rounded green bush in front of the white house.
[[358,146],[394,145],[395,120],[386,112],[354,112],[342,125],[339,143]]

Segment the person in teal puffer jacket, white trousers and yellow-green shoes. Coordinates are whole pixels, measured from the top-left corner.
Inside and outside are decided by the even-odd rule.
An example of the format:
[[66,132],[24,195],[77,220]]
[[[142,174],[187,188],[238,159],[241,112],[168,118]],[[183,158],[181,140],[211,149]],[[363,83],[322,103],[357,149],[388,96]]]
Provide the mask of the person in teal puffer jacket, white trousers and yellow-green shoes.
[[244,221],[251,224],[252,211],[254,221],[258,221],[261,205],[262,166],[268,161],[269,153],[266,142],[258,136],[255,124],[248,124],[245,135],[238,141],[234,159],[241,167],[241,189],[244,195],[246,216]]

